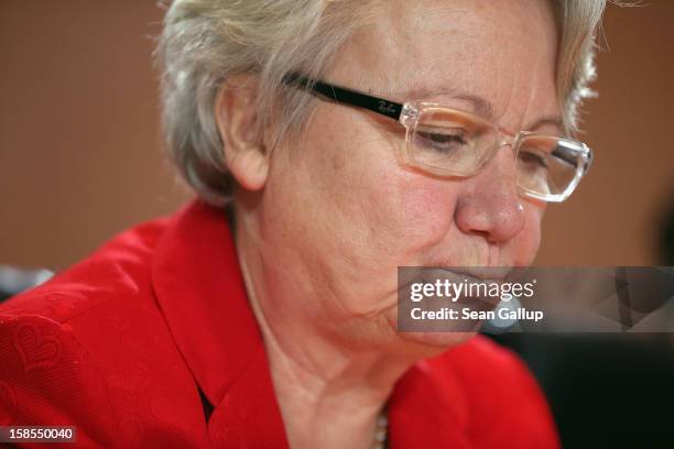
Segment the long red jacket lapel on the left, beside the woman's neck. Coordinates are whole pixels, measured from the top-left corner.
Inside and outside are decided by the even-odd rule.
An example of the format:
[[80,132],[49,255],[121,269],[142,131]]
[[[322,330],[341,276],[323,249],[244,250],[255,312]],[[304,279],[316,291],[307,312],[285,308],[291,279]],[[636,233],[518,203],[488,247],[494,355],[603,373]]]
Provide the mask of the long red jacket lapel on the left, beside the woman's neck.
[[171,217],[151,270],[173,339],[215,407],[211,440],[228,447],[235,440],[244,447],[262,447],[262,438],[285,441],[225,211],[196,200]]

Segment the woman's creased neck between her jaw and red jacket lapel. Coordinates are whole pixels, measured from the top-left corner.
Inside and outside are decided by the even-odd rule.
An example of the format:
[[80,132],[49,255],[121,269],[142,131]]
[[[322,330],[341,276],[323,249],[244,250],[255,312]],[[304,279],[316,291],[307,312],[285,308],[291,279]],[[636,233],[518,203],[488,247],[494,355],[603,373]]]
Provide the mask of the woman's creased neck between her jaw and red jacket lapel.
[[393,385],[415,360],[349,347],[322,331],[297,307],[316,298],[283,295],[275,282],[267,288],[259,242],[250,244],[246,233],[237,232],[239,262],[291,447],[372,447]]

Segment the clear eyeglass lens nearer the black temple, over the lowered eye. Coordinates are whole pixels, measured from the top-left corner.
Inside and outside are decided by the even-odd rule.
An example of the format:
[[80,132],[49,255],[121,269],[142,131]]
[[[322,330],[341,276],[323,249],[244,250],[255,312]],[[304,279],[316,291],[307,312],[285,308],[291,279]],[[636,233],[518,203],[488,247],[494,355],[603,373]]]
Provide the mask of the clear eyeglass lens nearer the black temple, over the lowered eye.
[[469,176],[480,168],[498,132],[487,122],[443,108],[424,109],[411,134],[412,162],[441,175]]

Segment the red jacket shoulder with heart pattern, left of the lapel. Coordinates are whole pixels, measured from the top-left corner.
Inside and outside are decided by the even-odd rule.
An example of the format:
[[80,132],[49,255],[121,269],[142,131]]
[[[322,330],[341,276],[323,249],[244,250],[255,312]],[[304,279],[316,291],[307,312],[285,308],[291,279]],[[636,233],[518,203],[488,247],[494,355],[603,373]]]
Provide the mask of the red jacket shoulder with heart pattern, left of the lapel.
[[165,228],[134,227],[0,306],[0,425],[76,425],[85,446],[197,445],[198,391],[152,287]]

